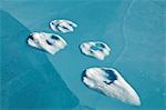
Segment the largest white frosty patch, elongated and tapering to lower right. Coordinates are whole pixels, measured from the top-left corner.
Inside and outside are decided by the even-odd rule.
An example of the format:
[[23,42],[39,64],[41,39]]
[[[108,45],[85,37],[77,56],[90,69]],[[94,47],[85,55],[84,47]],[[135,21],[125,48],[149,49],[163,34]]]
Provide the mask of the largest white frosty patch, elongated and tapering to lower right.
[[82,80],[90,89],[125,103],[141,106],[136,91],[113,68],[89,68],[83,72]]

